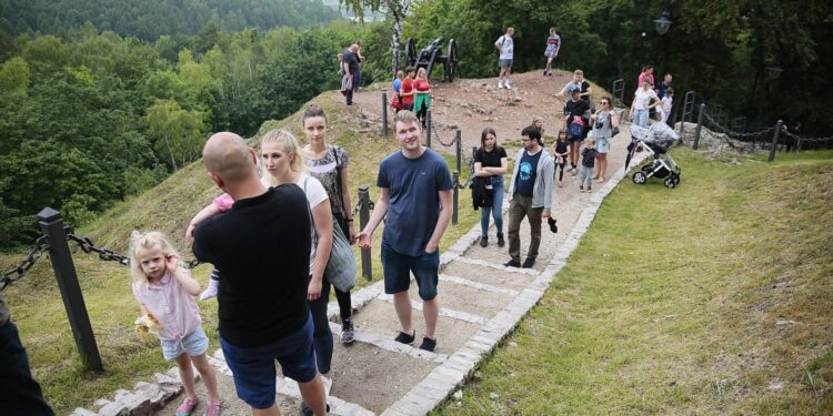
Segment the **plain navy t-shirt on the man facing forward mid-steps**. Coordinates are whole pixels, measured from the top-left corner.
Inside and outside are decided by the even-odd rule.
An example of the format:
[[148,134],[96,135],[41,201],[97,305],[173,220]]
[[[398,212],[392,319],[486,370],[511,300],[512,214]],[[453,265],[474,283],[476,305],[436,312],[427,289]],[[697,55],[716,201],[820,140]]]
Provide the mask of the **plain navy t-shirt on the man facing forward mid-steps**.
[[384,241],[400,254],[425,253],[440,217],[436,193],[453,187],[445,160],[431,149],[416,159],[397,151],[379,165],[377,186],[390,189]]

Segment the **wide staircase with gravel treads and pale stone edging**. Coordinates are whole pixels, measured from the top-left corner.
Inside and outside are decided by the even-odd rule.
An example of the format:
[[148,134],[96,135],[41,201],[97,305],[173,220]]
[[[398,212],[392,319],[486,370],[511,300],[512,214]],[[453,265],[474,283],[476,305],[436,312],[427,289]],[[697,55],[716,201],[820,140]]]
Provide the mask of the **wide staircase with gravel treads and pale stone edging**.
[[[331,414],[424,415],[451,396],[474,372],[479,362],[541,300],[550,282],[579,245],[603,199],[626,177],[622,164],[629,136],[629,130],[623,126],[609,156],[610,172],[614,173],[605,183],[596,184],[599,187],[592,194],[580,194],[578,181],[572,179],[565,179],[565,187],[555,189],[553,216],[558,219],[560,230],[558,234],[552,234],[546,224],[543,224],[541,254],[533,268],[504,267],[502,263],[509,260],[505,247],[499,248],[494,243],[488,247],[475,244],[480,237],[479,224],[442,253],[438,286],[441,312],[435,353],[416,348],[424,322],[415,284],[410,291],[416,328],[414,346],[393,341],[400,329],[399,321],[392,296],[384,294],[383,282],[352,294],[357,327],[352,345],[339,343],[341,326],[337,323],[338,305],[335,302],[331,303],[328,314],[335,338],[332,362],[334,383],[329,398]],[[644,152],[639,154],[632,162],[632,168],[638,166],[644,156]],[[504,209],[506,206],[504,204]],[[505,215],[504,223],[508,223]],[[523,223],[522,254],[528,244],[529,225]],[[249,415],[249,407],[237,398],[231,372],[223,361],[222,352],[218,349],[210,361],[218,369],[221,394],[227,400],[223,414]],[[175,383],[169,379],[178,377],[175,368],[165,377],[167,388],[170,390],[173,388],[171,386],[175,387]],[[141,387],[149,389],[144,385]],[[198,387],[203,388],[201,384]],[[201,397],[205,397],[204,390],[201,392]],[[300,393],[293,381],[279,377],[277,394],[282,414],[298,414]],[[99,400],[98,413],[79,408],[73,415],[171,415],[181,402],[181,398],[171,397],[173,393],[168,394],[164,399],[151,403],[150,399],[139,397],[139,388],[136,392],[120,390],[117,398],[127,397],[133,405],[137,402],[147,403],[129,408],[118,404],[118,400]],[[168,403],[159,409],[162,402]],[[203,404],[200,405],[199,412],[202,412]]]

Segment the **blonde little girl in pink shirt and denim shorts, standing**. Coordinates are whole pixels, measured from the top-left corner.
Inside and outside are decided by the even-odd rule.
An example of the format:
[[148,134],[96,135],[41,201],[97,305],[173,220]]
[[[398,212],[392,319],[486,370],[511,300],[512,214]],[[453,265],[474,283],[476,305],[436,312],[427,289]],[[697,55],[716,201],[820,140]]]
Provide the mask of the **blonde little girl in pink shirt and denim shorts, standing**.
[[197,407],[197,389],[191,364],[200,372],[209,403],[204,415],[220,415],[222,402],[217,389],[217,375],[205,357],[209,339],[202,331],[200,310],[193,296],[200,284],[180,266],[179,254],[159,232],[130,234],[130,274],[133,296],[142,311],[137,321],[143,327],[154,327],[165,359],[177,361],[185,400],[175,416],[189,416]]

